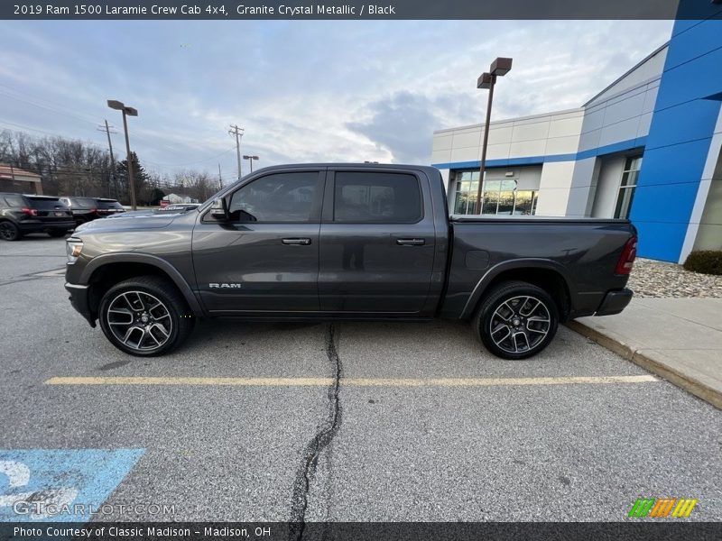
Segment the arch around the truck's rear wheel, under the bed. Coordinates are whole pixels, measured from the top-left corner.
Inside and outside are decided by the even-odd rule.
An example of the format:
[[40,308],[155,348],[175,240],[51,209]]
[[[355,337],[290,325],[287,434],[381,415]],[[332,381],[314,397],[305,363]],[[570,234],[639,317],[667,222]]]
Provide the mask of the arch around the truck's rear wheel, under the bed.
[[505,281],[524,281],[544,289],[557,304],[560,321],[569,316],[575,289],[567,270],[555,261],[529,259],[505,261],[486,271],[468,298],[461,318],[473,316],[489,292]]

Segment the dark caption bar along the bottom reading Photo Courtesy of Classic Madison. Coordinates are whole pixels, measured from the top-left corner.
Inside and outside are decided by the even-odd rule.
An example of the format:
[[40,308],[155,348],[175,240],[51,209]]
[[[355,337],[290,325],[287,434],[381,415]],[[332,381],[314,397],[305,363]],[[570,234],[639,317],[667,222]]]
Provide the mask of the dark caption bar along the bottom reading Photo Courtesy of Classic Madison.
[[[707,541],[722,538],[722,523],[666,518],[648,522],[6,522],[0,539],[14,541]],[[23,531],[21,531],[23,528]],[[115,528],[115,529],[114,529]],[[35,532],[35,535],[29,531]]]

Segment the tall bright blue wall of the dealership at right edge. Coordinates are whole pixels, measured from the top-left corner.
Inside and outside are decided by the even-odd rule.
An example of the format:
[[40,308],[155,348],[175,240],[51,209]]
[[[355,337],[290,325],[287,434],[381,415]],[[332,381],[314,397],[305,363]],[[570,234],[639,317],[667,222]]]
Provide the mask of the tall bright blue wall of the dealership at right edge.
[[[710,16],[719,7],[710,5]],[[722,92],[722,21],[675,23],[630,218],[639,255],[679,261]]]

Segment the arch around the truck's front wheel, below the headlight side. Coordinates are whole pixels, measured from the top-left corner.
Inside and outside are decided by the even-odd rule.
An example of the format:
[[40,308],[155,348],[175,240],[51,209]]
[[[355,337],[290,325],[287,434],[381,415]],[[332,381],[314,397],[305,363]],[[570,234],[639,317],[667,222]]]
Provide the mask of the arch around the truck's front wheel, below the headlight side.
[[91,260],[80,276],[90,286],[88,307],[97,315],[100,299],[116,283],[136,276],[159,276],[170,280],[185,298],[194,316],[203,316],[198,298],[180,272],[168,261],[143,253],[112,253]]

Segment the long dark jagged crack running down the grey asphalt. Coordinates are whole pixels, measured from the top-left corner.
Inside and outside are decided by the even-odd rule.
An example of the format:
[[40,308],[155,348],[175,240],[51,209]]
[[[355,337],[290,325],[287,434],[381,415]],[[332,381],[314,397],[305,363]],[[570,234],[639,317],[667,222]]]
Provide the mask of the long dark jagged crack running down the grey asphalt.
[[341,375],[343,367],[341,359],[336,350],[336,329],[333,324],[329,325],[326,333],[326,356],[333,369],[333,381],[329,386],[329,416],[318,426],[316,436],[303,449],[301,466],[296,471],[296,478],[293,481],[293,497],[291,500],[291,530],[289,539],[300,541],[303,537],[303,530],[306,527],[306,509],[309,506],[310,481],[316,472],[319,463],[319,455],[329,446],[331,440],[338,433],[341,426],[341,404],[338,391],[341,386]]

